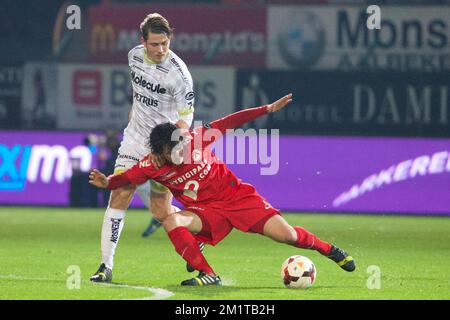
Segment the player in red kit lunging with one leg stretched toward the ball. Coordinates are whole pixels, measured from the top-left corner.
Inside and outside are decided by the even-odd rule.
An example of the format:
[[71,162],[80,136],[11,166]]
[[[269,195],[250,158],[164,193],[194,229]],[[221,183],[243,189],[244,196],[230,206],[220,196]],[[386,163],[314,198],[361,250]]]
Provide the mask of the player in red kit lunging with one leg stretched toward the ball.
[[[198,276],[181,285],[221,284],[197,242],[216,245],[233,228],[316,250],[345,271],[353,271],[355,262],[344,250],[304,228],[289,225],[252,185],[237,178],[208,148],[227,129],[275,112],[291,101],[292,94],[288,94],[272,104],[242,110],[181,134],[174,124],[157,125],[150,134],[152,155],[119,175],[106,177],[94,169],[89,182],[114,190],[153,179],[166,186],[184,205],[182,211],[169,215],[162,223],[178,254],[200,271]],[[159,167],[153,157],[159,158],[157,162],[162,159],[164,164]]]

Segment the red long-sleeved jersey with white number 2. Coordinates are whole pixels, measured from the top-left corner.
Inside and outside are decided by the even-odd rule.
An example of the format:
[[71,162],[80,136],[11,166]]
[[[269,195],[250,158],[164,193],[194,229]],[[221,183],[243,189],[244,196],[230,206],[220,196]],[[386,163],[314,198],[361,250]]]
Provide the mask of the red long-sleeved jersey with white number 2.
[[[166,186],[186,207],[231,200],[241,180],[209,150],[208,146],[215,140],[207,139],[207,129],[217,129],[223,135],[227,129],[250,122],[267,112],[268,106],[245,109],[209,125],[194,128],[190,131],[194,140],[189,145],[191,158],[194,160],[192,163],[165,164],[156,169],[147,156],[126,172],[109,177],[108,189],[117,189],[127,184],[137,185],[153,179]],[[196,135],[203,137],[201,145],[197,146],[195,143]]]

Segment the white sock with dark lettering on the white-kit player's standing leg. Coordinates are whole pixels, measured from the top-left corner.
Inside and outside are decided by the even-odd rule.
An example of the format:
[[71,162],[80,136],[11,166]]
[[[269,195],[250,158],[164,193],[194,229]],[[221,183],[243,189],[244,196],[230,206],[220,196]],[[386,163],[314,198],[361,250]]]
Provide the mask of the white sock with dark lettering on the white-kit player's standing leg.
[[112,269],[114,253],[123,229],[125,210],[108,207],[102,225],[102,262]]

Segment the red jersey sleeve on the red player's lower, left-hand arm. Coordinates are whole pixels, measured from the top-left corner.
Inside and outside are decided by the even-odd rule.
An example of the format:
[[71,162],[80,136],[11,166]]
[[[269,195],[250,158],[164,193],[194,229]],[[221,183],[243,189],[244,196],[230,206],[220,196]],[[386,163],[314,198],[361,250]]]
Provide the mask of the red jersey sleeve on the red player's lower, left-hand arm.
[[142,184],[155,177],[155,172],[157,170],[147,156],[124,173],[108,177],[108,189],[114,190],[129,184]]

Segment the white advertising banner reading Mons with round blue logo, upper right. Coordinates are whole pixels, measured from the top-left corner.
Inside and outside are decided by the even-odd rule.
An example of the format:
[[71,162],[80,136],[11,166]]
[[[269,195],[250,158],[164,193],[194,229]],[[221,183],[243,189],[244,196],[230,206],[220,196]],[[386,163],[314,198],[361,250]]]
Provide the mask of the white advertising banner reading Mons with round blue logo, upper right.
[[450,71],[450,7],[380,6],[380,29],[366,9],[270,6],[268,67]]

